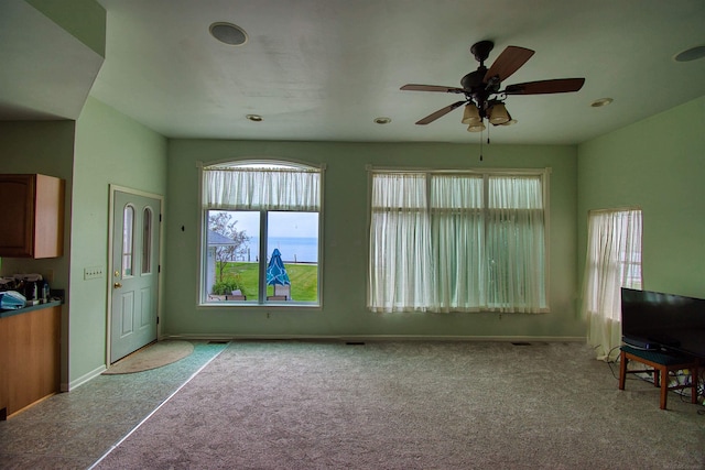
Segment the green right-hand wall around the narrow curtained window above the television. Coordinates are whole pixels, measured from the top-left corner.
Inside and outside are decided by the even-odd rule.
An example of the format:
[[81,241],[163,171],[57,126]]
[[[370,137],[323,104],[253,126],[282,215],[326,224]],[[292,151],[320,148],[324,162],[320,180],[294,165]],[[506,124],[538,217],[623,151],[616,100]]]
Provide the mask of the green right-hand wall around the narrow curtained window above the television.
[[644,288],[705,298],[705,97],[579,145],[578,175],[581,278],[588,210],[639,206]]

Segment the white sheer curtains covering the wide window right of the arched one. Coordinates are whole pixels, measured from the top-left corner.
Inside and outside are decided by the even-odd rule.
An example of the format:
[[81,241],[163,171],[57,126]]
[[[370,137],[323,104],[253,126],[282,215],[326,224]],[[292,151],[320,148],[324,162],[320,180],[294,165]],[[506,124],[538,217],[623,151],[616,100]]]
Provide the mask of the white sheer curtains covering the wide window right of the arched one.
[[543,174],[373,172],[372,311],[547,311]]

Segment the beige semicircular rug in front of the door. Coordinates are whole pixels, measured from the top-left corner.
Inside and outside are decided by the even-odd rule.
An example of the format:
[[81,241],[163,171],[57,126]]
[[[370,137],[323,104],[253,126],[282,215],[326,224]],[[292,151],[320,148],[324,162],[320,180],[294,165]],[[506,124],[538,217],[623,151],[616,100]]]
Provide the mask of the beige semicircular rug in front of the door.
[[110,365],[104,375],[131,374],[161,368],[188,357],[194,346],[188,341],[159,341]]

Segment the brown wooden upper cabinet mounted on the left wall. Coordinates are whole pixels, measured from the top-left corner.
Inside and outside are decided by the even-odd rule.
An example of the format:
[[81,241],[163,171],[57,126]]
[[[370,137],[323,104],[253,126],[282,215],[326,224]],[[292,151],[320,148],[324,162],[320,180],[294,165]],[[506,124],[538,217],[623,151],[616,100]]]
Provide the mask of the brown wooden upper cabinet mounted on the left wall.
[[45,175],[0,175],[0,256],[64,254],[64,179]]

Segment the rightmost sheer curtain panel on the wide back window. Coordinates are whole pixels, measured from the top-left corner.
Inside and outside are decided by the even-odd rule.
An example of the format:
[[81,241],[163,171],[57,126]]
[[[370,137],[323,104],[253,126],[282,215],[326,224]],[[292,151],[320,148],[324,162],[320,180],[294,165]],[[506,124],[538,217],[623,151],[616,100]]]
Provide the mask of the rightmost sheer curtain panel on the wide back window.
[[489,309],[546,311],[541,176],[491,176],[488,192]]

